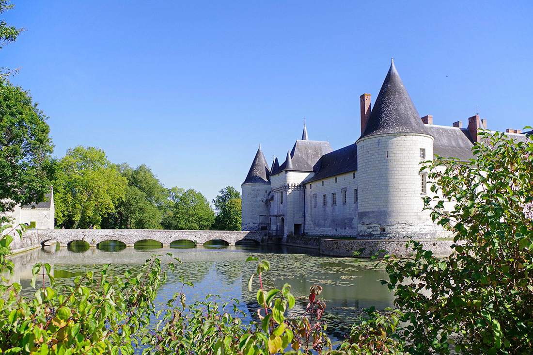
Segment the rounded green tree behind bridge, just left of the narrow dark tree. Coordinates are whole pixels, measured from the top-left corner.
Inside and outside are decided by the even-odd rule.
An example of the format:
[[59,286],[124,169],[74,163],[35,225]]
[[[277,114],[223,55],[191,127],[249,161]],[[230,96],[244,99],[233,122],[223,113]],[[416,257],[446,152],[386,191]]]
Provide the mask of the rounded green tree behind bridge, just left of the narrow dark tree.
[[204,195],[198,191],[173,187],[170,207],[161,225],[173,230],[207,230],[213,225],[215,212]]

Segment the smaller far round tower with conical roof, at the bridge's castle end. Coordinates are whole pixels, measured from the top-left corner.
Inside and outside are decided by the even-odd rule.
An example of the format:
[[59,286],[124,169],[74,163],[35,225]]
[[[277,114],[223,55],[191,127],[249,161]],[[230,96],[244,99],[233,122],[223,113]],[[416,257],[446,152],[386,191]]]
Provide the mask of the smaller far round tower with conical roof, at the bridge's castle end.
[[267,194],[270,191],[270,169],[266,163],[265,156],[261,151],[261,145],[257,149],[254,161],[248,175],[241,184],[243,231],[259,231],[266,229],[268,224],[268,200]]

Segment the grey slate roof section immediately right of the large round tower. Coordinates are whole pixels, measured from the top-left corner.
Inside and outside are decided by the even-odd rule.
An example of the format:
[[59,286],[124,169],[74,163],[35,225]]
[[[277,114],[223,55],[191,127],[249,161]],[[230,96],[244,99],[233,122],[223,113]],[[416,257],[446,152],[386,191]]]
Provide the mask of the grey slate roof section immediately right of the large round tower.
[[468,161],[472,155],[472,136],[467,128],[425,124],[426,130],[435,137],[433,154]]

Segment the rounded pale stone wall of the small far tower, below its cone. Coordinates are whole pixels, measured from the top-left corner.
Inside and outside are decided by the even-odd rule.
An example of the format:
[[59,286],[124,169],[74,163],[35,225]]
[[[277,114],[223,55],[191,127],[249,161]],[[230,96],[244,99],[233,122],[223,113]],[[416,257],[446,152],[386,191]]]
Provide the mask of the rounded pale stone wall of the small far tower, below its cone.
[[243,231],[257,231],[261,226],[266,226],[268,215],[266,195],[270,191],[270,184],[244,184],[241,186],[243,221],[241,228]]

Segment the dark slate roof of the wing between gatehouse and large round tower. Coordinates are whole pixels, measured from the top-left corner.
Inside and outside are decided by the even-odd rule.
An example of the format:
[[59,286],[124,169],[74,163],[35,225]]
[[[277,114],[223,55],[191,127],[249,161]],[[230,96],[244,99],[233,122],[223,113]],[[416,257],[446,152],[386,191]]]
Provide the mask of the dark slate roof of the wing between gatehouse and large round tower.
[[314,171],[316,171],[316,174],[307,180],[306,183],[356,170],[357,145],[354,143],[322,155],[319,161],[314,165]]

